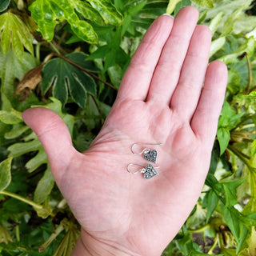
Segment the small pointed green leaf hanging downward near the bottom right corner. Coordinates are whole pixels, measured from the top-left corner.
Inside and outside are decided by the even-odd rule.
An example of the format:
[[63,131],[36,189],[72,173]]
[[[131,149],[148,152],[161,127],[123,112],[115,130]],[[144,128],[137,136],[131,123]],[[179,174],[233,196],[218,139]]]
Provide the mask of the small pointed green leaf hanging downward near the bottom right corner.
[[235,240],[239,241],[240,234],[240,221],[233,207],[225,207],[223,211],[223,216],[225,218],[227,226],[229,226]]

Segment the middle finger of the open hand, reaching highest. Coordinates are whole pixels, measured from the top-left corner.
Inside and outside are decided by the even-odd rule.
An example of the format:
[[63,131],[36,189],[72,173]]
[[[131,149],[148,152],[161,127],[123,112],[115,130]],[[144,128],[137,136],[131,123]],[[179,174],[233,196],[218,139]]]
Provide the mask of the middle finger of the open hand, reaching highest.
[[147,101],[161,102],[169,106],[197,22],[196,8],[187,6],[178,12],[170,38],[162,50],[155,69]]

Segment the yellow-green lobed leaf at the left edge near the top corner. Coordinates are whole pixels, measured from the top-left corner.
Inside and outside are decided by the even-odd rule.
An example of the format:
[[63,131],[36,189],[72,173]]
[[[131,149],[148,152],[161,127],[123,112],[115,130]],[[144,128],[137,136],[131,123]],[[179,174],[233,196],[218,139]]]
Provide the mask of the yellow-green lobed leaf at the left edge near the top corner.
[[0,16],[0,40],[3,54],[10,49],[10,42],[17,58],[22,60],[24,47],[34,54],[33,36],[24,22],[15,14],[6,12]]

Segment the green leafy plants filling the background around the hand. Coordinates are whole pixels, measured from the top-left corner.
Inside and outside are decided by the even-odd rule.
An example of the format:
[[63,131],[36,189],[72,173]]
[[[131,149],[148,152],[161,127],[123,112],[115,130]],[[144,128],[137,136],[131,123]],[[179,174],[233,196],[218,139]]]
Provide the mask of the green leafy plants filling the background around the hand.
[[79,235],[22,111],[54,110],[86,150],[150,23],[188,5],[229,79],[202,194],[162,255],[256,254],[255,1],[1,0],[0,255],[70,255]]

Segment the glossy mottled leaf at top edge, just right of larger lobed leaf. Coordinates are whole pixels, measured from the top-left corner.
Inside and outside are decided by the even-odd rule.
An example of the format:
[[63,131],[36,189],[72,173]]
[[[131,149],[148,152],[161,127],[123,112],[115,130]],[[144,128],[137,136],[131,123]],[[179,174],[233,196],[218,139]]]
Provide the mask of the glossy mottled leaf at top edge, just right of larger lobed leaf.
[[87,2],[90,2],[90,5],[95,10],[98,10],[98,13],[102,15],[106,24],[110,23],[114,26],[122,25],[122,14],[118,12],[110,0],[87,0]]

